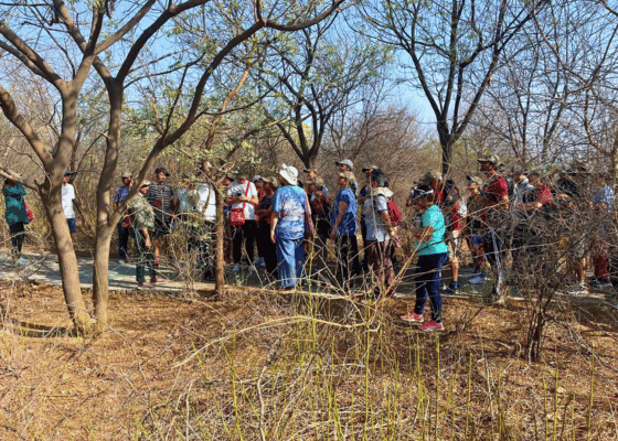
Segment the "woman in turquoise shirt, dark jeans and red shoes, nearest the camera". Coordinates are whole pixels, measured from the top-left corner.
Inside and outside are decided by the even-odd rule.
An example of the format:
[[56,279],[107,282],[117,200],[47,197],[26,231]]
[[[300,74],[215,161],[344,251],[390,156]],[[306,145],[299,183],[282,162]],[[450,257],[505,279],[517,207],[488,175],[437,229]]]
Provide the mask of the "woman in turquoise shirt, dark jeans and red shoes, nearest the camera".
[[416,303],[414,311],[403,315],[402,320],[423,323],[423,310],[428,295],[431,303],[431,321],[423,323],[420,330],[444,331],[440,269],[448,258],[448,248],[444,241],[444,215],[437,205],[434,191],[428,185],[414,189],[411,202],[414,208],[422,213],[422,228],[413,229],[418,254],[415,271]]

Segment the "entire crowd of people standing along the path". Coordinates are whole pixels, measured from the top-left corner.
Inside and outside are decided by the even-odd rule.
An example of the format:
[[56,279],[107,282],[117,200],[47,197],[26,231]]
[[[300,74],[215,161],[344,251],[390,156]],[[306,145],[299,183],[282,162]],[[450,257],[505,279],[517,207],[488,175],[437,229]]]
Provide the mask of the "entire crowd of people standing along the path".
[[[406,200],[406,206],[413,207],[416,214],[406,223],[402,223],[386,174],[376,165],[363,168],[364,180],[359,182],[351,160],[335,162],[335,193],[329,192],[316,169],[305,169],[303,178],[296,168],[286,164],[280,166],[276,178],[256,175],[249,181],[244,173],[226,176],[226,197],[222,205],[228,236],[225,248],[231,248],[232,271],[242,270],[244,249],[249,272],[264,267],[278,280],[281,290],[292,290],[308,278],[327,272],[323,270],[328,268],[331,240],[337,269],[335,280],[329,280],[330,283],[337,282],[348,292],[354,283],[366,281],[370,275],[374,287],[371,294],[393,295],[395,249],[401,248],[399,235],[405,230],[413,239],[412,249],[418,259],[416,301],[402,320],[418,323],[424,331],[440,331],[444,330],[443,267],[447,265],[450,269],[446,292],[457,292],[464,244],[473,258],[475,276],[469,282],[483,283],[489,268],[493,273],[492,295],[500,301],[508,252],[516,270],[532,271],[533,267],[541,272],[546,270],[542,259],[548,245],[543,233],[551,224],[573,233],[564,235],[561,244],[576,279],[572,292],[588,292],[588,255],[594,265],[592,283],[611,287],[609,214],[614,190],[606,176],[592,174],[579,164],[563,171],[558,180],[550,183],[544,182],[540,173],[523,168],[507,170],[494,154],[479,158],[478,162],[484,179],[466,176],[467,198],[454,180],[443,179],[440,173],[431,171],[423,175]],[[188,228],[187,247],[196,255],[202,277],[210,278],[214,273],[216,190],[206,179],[203,166],[193,176],[184,176],[178,191],[167,182],[169,175],[164,168],[158,168],[154,182],[145,181],[137,197],[125,204],[132,176],[122,173],[122,185],[114,194],[114,209],[122,212],[118,223],[119,262],[127,260],[128,239],[134,237],[139,289],[152,288],[161,281],[161,254],[167,249],[168,236],[178,225]],[[72,173],[65,173],[62,201],[73,234],[76,201],[75,190],[68,183],[71,176]],[[25,189],[20,183],[6,180],[3,194],[13,257],[17,265],[23,265],[24,225],[32,220],[32,212],[28,209]],[[582,203],[595,215],[597,234],[594,238],[577,230],[575,220],[582,217],[578,212]],[[361,233],[361,246],[358,233]],[[310,268],[306,265],[307,254],[311,256]],[[425,321],[423,312],[427,299],[431,315]]]

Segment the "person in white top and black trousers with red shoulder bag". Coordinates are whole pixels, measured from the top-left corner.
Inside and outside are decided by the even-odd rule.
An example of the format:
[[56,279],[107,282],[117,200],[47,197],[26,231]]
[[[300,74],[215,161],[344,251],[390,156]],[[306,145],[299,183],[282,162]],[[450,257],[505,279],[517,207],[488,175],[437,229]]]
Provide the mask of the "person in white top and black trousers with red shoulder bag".
[[234,272],[241,271],[241,261],[243,258],[243,243],[245,244],[245,252],[249,262],[249,272],[254,267],[254,245],[257,236],[257,224],[255,222],[255,207],[258,204],[257,189],[253,182],[247,180],[245,173],[238,173],[236,181],[230,184],[227,189],[227,204],[232,209],[243,209],[245,223],[243,225],[232,226],[232,257],[234,259]]

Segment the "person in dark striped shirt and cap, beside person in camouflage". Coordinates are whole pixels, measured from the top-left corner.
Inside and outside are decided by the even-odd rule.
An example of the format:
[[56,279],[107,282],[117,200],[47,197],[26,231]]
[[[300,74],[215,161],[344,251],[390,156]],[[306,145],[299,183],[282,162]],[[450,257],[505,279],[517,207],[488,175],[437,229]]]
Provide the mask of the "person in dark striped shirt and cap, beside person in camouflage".
[[[175,193],[166,180],[170,176],[168,171],[160,166],[154,170],[157,182],[151,184],[146,193],[146,198],[154,211],[154,228],[152,230],[152,243],[154,246],[154,270],[159,272],[161,248],[166,245],[167,236],[171,233],[173,216],[178,209]],[[159,276],[157,276],[159,277]],[[152,282],[157,282],[157,277]]]

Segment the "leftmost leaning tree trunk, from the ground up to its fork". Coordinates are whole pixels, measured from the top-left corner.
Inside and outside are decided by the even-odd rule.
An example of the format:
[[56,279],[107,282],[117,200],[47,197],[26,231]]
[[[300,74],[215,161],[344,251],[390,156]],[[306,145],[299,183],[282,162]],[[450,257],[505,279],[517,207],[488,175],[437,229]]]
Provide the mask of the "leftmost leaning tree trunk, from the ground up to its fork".
[[86,304],[82,295],[77,257],[73,248],[71,233],[68,232],[68,224],[62,211],[60,194],[57,194],[56,197],[42,197],[42,201],[56,246],[62,290],[64,292],[66,308],[68,309],[68,315],[79,333],[89,334],[93,331],[94,321],[86,310]]

